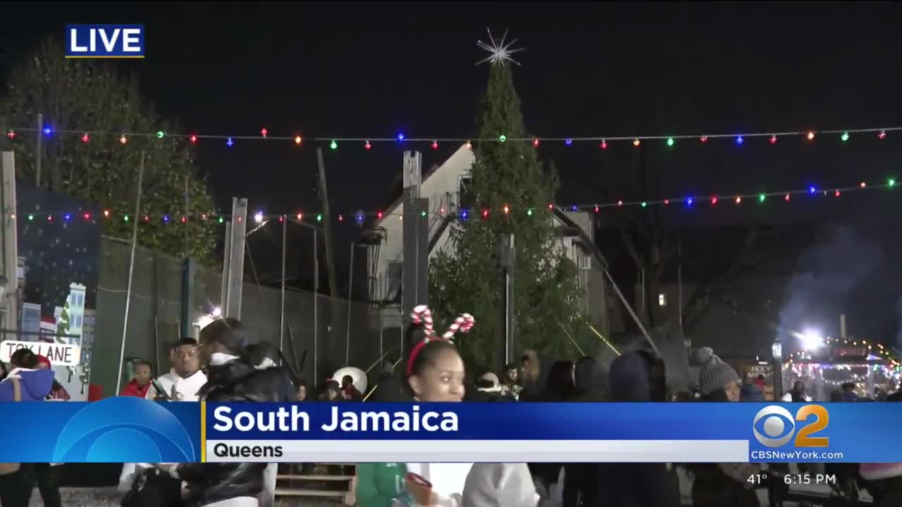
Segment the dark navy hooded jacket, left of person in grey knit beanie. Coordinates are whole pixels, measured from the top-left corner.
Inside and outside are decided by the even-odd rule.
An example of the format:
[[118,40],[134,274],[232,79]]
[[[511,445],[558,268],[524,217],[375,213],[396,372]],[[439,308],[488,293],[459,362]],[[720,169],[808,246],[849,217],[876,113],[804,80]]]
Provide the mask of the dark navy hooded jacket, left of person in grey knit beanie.
[[[665,401],[666,380],[652,380],[642,353],[621,355],[611,364],[608,386],[612,401]],[[663,385],[661,385],[663,384]],[[663,463],[604,463],[596,466],[596,498],[605,507],[672,507],[679,494]]]

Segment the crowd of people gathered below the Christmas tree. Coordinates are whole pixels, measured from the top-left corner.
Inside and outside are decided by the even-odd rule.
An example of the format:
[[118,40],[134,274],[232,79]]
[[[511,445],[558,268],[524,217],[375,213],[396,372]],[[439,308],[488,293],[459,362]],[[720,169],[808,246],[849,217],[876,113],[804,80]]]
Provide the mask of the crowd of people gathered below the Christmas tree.
[[[526,351],[520,364],[485,372],[473,383],[454,344],[456,334],[474,325],[469,316],[443,335],[431,327],[428,309],[418,307],[406,330],[410,353],[396,372],[383,364],[366,401],[488,402],[664,402],[763,401],[763,377],[741,379],[709,348],[698,351],[698,392],[672,395],[667,367],[649,350],[620,355],[611,364],[598,358],[551,361]],[[285,361],[281,351],[253,336],[234,318],[220,318],[171,347],[169,373],[154,376],[153,365],[135,364],[134,378],[121,395],[153,401],[364,401],[351,375],[327,379],[320,392]],[[0,401],[65,401],[50,362],[27,349],[11,357],[0,383]],[[859,401],[848,386],[834,401]],[[365,389],[365,388],[364,388]],[[887,401],[898,401],[899,393]],[[787,401],[805,401],[796,383]],[[309,465],[308,465],[309,466]],[[750,483],[761,472],[755,464],[473,464],[460,491],[437,491],[439,464],[361,464],[354,471],[354,497],[360,507],[664,507],[681,503],[680,475],[692,479],[695,507],[756,506],[757,488],[771,500],[785,492],[780,466],[770,466],[765,484]],[[842,466],[863,484],[881,507],[902,505],[902,464]],[[269,507],[274,502],[275,464],[125,464],[120,488],[125,506]],[[24,507],[37,485],[44,505],[59,506],[59,464],[0,464],[0,505]],[[848,492],[845,492],[848,493]]]

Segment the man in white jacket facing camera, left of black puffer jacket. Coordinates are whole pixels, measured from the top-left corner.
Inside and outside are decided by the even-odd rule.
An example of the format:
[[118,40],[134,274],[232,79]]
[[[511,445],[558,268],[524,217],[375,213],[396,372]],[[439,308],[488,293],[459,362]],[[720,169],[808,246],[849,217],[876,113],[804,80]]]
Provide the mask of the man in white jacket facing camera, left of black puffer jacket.
[[[147,390],[146,399],[165,401],[198,401],[200,388],[207,383],[207,375],[200,371],[198,341],[194,338],[182,338],[170,349],[172,369],[157,378],[157,382],[165,392],[157,392],[151,386]],[[150,463],[125,463],[119,475],[120,491],[132,488],[134,478],[139,469],[152,468]]]

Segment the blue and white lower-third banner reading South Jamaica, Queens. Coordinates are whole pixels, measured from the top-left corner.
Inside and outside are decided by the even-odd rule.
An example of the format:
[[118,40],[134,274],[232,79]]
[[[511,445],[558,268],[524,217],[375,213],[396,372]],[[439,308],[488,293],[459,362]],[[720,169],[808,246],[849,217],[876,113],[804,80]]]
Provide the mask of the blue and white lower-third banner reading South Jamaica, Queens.
[[0,462],[902,462],[897,403],[0,405]]

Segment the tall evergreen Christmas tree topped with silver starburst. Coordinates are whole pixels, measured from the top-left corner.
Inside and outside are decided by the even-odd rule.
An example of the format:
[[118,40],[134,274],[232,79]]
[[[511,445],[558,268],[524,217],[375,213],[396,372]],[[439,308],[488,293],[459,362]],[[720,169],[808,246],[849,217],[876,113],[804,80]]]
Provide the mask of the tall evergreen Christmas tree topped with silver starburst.
[[[503,41],[491,46],[489,81],[477,116],[475,161],[462,199],[473,208],[451,227],[451,247],[430,265],[430,303],[440,318],[469,312],[473,332],[460,341],[469,368],[483,373],[500,362],[502,309],[499,244],[514,235],[515,354],[532,348],[540,354],[566,354],[572,328],[575,266],[564,254],[548,203],[554,201],[557,175],[544,167],[529,139],[513,85],[511,50]],[[518,141],[515,141],[518,140]],[[467,205],[464,202],[464,205]]]

